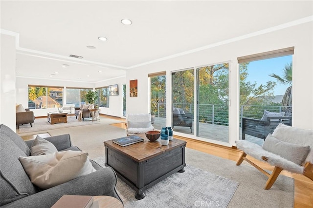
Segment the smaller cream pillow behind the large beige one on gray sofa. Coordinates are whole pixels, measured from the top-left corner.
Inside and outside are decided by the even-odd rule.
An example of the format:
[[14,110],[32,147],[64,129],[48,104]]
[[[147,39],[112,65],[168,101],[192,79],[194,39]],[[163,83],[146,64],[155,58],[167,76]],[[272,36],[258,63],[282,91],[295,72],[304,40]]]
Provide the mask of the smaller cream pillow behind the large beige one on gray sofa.
[[57,148],[51,142],[45,140],[44,138],[37,135],[36,139],[30,148],[30,155],[42,155],[42,154],[52,154],[58,151]]

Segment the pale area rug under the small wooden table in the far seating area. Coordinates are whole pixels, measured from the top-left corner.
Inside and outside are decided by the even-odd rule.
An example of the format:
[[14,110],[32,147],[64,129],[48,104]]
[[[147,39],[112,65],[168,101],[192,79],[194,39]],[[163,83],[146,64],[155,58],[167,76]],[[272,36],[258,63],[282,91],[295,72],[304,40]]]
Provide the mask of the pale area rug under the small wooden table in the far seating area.
[[[90,118],[91,119],[91,118]],[[96,125],[99,124],[99,121],[92,122],[89,118],[84,118],[84,121],[78,121],[76,116],[67,116],[67,123],[56,123],[50,124],[47,121],[47,118],[36,118],[33,127],[30,127],[29,124],[20,125],[20,129],[16,129],[18,134],[28,133],[28,132],[39,132],[39,131],[47,131],[52,129],[62,129],[68,127],[75,126],[86,126],[86,125]],[[121,121],[110,119],[110,118],[101,118],[101,123],[112,124],[112,123],[120,123]]]

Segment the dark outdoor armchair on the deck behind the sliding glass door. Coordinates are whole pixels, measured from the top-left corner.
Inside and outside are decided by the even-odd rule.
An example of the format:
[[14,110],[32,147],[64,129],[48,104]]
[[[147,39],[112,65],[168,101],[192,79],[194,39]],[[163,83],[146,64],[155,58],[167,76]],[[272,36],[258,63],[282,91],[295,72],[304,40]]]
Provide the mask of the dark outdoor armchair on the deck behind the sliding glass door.
[[185,113],[181,108],[173,108],[173,125],[190,127],[192,132],[192,113]]

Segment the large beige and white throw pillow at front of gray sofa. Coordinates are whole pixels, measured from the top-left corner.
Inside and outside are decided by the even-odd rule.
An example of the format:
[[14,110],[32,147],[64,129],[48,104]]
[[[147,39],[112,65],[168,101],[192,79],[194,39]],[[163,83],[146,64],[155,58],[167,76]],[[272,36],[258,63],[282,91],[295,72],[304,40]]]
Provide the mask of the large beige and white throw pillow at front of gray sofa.
[[57,151],[52,154],[19,157],[31,182],[41,189],[96,171],[83,151]]

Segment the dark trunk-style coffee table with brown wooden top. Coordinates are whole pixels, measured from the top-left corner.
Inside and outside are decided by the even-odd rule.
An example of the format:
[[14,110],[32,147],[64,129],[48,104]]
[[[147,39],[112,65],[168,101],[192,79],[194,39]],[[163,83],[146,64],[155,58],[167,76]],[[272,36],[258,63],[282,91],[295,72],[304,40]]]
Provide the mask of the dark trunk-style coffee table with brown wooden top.
[[173,173],[184,172],[186,142],[173,139],[162,146],[159,141],[143,142],[121,147],[112,140],[105,141],[106,166],[136,191],[135,198],[143,199],[145,191]]

